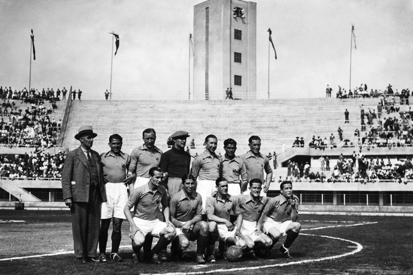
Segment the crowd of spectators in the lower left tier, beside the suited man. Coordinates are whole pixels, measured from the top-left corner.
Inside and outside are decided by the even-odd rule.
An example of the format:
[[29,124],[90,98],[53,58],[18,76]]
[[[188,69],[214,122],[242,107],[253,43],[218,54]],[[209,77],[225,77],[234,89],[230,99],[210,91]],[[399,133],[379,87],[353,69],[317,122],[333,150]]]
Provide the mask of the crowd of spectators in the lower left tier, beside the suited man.
[[0,154],[0,176],[9,179],[60,178],[66,153],[34,151],[24,155]]

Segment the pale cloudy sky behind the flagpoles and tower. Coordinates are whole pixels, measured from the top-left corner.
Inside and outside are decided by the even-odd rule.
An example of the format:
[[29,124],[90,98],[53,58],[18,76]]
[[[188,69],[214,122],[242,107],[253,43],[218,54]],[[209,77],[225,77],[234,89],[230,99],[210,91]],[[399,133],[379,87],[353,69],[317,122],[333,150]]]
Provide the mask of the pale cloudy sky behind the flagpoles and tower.
[[[0,86],[29,86],[33,29],[32,87],[73,86],[83,99],[104,99],[114,31],[120,47],[112,99],[185,100],[193,7],[201,2],[0,0]],[[256,3],[257,99],[268,97],[268,28],[278,55],[270,56],[270,98],[324,97],[327,85],[333,93],[338,85],[348,89],[352,25],[352,87],[413,89],[413,0]]]

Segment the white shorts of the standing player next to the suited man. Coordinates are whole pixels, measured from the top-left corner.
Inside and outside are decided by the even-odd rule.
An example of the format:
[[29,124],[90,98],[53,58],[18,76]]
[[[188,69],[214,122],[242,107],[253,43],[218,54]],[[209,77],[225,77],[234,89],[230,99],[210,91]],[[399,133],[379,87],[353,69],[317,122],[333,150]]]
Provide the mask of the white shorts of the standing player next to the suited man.
[[102,202],[101,219],[110,219],[112,217],[126,219],[123,214],[126,201],[128,200],[128,191],[123,182],[113,184],[108,182],[105,185],[107,202]]

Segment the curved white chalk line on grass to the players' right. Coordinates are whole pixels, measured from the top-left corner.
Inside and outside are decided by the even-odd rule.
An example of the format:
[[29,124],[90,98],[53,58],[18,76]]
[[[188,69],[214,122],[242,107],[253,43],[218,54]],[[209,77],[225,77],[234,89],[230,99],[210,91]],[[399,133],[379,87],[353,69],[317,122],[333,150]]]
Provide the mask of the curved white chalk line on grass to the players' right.
[[[341,238],[336,238],[336,237],[331,237],[331,236],[323,236],[323,235],[312,235],[312,234],[300,234],[300,235],[305,235],[305,236],[313,236],[313,237],[322,237],[322,238],[328,238],[328,239],[334,239],[334,240],[339,240],[339,241],[345,241],[345,242],[350,242],[352,244],[357,245],[357,249],[346,253],[342,255],[336,255],[336,256],[331,256],[331,257],[325,257],[325,258],[320,258],[320,259],[311,259],[311,260],[303,260],[303,261],[297,261],[297,262],[288,262],[284,264],[271,264],[271,265],[262,265],[262,266],[251,266],[251,267],[239,267],[239,268],[230,268],[230,269],[216,269],[216,270],[210,270],[210,271],[196,271],[196,272],[176,272],[176,273],[159,273],[159,274],[152,274],[152,275],[193,275],[193,274],[207,274],[207,273],[215,273],[215,272],[232,272],[232,271],[241,271],[241,270],[251,270],[251,269],[259,269],[259,268],[268,268],[268,267],[276,267],[276,266],[287,266],[287,265],[294,265],[294,264],[304,264],[304,263],[310,263],[310,262],[321,262],[321,261],[326,261],[326,260],[332,260],[332,259],[337,259],[341,257],[346,257],[350,256],[353,254],[356,254],[363,249],[363,246],[359,244],[358,242],[353,242],[350,240],[346,239],[341,239]],[[142,273],[141,275],[148,275]]]

